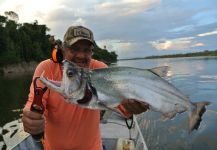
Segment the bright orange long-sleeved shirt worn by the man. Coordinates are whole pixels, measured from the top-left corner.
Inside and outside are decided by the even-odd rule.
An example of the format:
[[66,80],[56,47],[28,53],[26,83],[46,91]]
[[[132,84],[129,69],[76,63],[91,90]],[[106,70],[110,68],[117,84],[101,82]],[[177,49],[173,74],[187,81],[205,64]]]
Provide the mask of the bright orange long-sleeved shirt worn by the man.
[[[105,68],[106,64],[92,59],[90,69]],[[49,79],[62,79],[60,64],[52,60],[41,62],[34,73],[33,79],[45,71]],[[44,87],[40,81],[37,86]],[[26,107],[33,101],[33,84],[30,87]],[[100,111],[81,108],[68,104],[63,97],[53,90],[47,90],[43,95],[45,106],[45,149],[46,150],[101,150]]]

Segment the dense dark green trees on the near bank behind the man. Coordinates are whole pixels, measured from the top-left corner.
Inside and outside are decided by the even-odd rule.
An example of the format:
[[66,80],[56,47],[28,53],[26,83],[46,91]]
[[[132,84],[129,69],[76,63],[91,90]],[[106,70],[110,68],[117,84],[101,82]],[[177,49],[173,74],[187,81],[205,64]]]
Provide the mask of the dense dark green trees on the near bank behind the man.
[[[5,16],[0,15],[0,66],[38,62],[50,57],[49,28],[38,24],[37,20],[23,24],[17,23],[18,20],[18,15],[13,11],[5,12]],[[96,44],[93,57],[105,62],[117,60],[115,52],[110,53]]]

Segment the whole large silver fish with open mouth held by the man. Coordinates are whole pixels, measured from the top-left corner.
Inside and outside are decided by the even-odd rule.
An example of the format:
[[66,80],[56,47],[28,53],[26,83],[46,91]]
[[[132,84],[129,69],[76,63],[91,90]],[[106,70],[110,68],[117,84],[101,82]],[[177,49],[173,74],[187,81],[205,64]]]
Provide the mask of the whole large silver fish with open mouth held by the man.
[[42,83],[62,94],[67,102],[90,109],[116,111],[116,106],[125,99],[148,103],[150,110],[160,112],[162,119],[171,119],[177,113],[187,111],[189,133],[198,129],[205,106],[209,102],[191,102],[175,86],[162,77],[168,67],[139,69],[110,67],[89,70],[63,61],[62,81],[51,81],[43,76]]

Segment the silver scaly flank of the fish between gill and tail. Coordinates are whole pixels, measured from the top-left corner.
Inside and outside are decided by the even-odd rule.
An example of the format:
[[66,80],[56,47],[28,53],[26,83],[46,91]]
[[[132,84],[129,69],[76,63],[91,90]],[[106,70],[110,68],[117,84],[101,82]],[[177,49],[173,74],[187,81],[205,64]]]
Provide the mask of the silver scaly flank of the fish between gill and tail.
[[[165,84],[166,86],[163,87],[161,84],[162,79],[159,80],[159,78],[159,76],[154,75],[150,71],[128,67],[111,68],[104,70],[102,69],[100,70],[100,72],[97,72],[97,70],[95,70],[91,75],[91,82],[93,86],[95,85],[95,88],[99,87],[97,91],[103,93],[109,93],[111,95],[114,93],[116,93],[117,95],[120,95],[120,93],[126,93],[124,98],[145,98],[146,102],[148,102],[149,104],[153,104],[153,108],[157,108],[157,110],[160,110],[160,108],[162,108],[164,111],[166,110],[164,107],[161,107],[161,101],[168,102],[168,105],[171,105],[180,102],[182,104],[183,99],[186,100],[185,96],[180,94],[177,89],[171,88],[169,84]],[[106,84],[106,82],[108,84]],[[102,88],[101,83],[105,84],[107,88]],[[113,85],[112,88],[108,89],[109,85]],[[140,89],[143,89],[143,91],[140,92]],[[141,93],[142,95],[137,93]]]

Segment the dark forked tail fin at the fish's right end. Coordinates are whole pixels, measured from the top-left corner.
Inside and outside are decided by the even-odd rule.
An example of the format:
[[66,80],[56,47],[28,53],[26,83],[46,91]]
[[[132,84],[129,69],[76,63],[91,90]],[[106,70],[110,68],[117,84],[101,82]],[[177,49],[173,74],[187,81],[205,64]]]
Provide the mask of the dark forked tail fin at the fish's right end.
[[209,105],[210,102],[196,102],[192,103],[195,108],[191,111],[189,115],[189,133],[191,133],[194,129],[198,129],[200,126],[200,122],[202,121],[202,115],[205,113],[205,106]]

